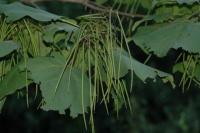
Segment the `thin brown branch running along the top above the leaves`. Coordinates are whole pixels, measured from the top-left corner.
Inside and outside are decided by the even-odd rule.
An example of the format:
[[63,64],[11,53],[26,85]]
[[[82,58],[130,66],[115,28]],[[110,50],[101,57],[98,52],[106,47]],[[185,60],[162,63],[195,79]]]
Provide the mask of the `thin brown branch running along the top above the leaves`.
[[87,8],[90,8],[92,10],[95,11],[99,11],[99,12],[103,12],[103,13],[111,13],[111,14],[118,14],[120,16],[125,16],[125,17],[129,17],[129,18],[143,18],[144,15],[142,14],[131,14],[131,13],[126,13],[126,12],[121,12],[118,10],[112,10],[109,9],[105,6],[98,6],[94,3],[92,3],[89,0],[21,0],[24,3],[37,3],[37,2],[52,2],[52,1],[58,1],[58,2],[69,2],[69,3],[77,3],[77,4],[81,4]]

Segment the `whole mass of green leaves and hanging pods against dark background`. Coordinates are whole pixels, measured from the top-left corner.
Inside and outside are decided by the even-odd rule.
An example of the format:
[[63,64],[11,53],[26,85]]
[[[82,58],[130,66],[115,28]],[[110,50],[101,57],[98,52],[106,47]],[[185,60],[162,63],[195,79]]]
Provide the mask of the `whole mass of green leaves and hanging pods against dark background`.
[[[123,104],[132,111],[135,76],[144,83],[161,78],[175,87],[173,74],[179,71],[183,90],[192,81],[199,85],[197,0],[96,2],[120,12],[71,20],[19,2],[0,5],[0,109],[15,92],[25,93],[29,106],[34,85],[36,96],[38,89],[42,95],[39,108],[83,114],[85,124],[89,112],[94,132],[96,104],[103,103],[107,113],[111,104],[117,112]],[[127,21],[123,11],[145,15]],[[145,62],[134,57],[132,45],[149,55]],[[162,59],[180,48],[173,71],[147,65],[152,54]]]

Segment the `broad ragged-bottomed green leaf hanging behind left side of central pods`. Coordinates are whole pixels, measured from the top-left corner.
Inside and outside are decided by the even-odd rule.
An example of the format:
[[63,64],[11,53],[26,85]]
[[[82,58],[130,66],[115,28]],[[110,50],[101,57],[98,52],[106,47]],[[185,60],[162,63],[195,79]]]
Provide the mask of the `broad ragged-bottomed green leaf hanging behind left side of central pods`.
[[90,105],[90,82],[87,76],[82,75],[82,71],[76,68],[67,68],[60,77],[64,66],[65,59],[60,56],[38,57],[28,62],[32,79],[40,83],[45,101],[42,109],[56,110],[64,114],[69,108],[70,115],[76,117],[85,113]]

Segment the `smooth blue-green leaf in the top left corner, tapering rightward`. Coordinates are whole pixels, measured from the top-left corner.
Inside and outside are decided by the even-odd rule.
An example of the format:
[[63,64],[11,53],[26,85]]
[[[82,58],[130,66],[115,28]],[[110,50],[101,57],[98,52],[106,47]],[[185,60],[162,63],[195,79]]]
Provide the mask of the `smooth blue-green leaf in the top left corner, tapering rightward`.
[[19,2],[14,2],[11,4],[1,4],[0,14],[4,14],[5,16],[7,16],[6,21],[8,22],[17,21],[24,17],[30,17],[41,22],[49,22],[53,20],[55,21],[61,18],[60,16],[57,16],[55,14],[26,6]]

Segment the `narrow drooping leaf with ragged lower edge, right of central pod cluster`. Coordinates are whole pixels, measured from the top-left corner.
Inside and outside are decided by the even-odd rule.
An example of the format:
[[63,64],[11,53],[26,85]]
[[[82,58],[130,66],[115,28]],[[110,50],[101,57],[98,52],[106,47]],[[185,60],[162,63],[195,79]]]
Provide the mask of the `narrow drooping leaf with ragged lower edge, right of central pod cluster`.
[[114,60],[115,70],[119,74],[116,74],[118,77],[123,77],[128,73],[128,70],[132,70],[143,82],[145,82],[147,78],[151,78],[155,81],[156,77],[159,76],[163,78],[165,82],[169,81],[174,86],[172,75],[138,62],[122,49],[116,49],[114,51]]

